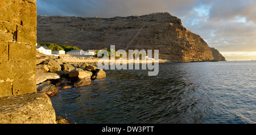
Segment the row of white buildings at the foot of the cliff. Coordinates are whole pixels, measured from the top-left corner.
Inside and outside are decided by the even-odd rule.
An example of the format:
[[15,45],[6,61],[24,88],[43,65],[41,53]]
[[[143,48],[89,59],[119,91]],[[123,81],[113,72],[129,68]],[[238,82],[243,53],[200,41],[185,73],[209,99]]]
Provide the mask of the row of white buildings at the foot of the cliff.
[[40,53],[46,54],[46,55],[55,55],[59,56],[60,54],[70,54],[70,55],[85,55],[85,56],[94,56],[96,50],[72,50],[67,51],[67,53],[63,50],[59,51],[52,51],[46,46],[36,46],[36,50],[38,50]]

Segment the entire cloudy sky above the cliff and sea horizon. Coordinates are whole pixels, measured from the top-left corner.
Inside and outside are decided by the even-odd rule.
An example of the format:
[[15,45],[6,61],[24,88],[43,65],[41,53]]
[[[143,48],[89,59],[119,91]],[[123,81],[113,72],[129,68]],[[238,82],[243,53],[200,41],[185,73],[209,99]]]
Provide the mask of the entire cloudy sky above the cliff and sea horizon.
[[255,0],[38,0],[38,15],[113,18],[169,12],[226,60],[256,60]]

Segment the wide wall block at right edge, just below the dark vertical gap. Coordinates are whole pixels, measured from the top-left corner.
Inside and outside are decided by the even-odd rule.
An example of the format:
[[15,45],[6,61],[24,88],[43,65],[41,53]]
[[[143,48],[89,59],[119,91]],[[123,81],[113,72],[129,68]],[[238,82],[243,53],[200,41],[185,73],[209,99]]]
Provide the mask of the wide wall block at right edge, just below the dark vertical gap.
[[27,43],[10,42],[9,60],[33,61],[36,59],[36,45]]

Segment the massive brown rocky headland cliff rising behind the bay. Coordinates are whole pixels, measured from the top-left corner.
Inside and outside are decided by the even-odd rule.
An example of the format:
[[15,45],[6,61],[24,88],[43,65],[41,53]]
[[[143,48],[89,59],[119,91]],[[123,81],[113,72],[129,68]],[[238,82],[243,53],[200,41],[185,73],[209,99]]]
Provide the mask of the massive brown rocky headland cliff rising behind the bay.
[[214,60],[207,43],[167,12],[115,18],[38,16],[37,29],[38,42],[83,50],[115,45],[115,50],[159,50],[160,59]]

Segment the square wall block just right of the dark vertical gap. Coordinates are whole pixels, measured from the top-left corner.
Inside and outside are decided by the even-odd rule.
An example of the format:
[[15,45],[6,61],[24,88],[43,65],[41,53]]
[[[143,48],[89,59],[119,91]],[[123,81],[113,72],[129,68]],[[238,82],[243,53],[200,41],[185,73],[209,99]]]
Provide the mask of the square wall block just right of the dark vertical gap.
[[17,41],[36,44],[36,27],[17,25]]

